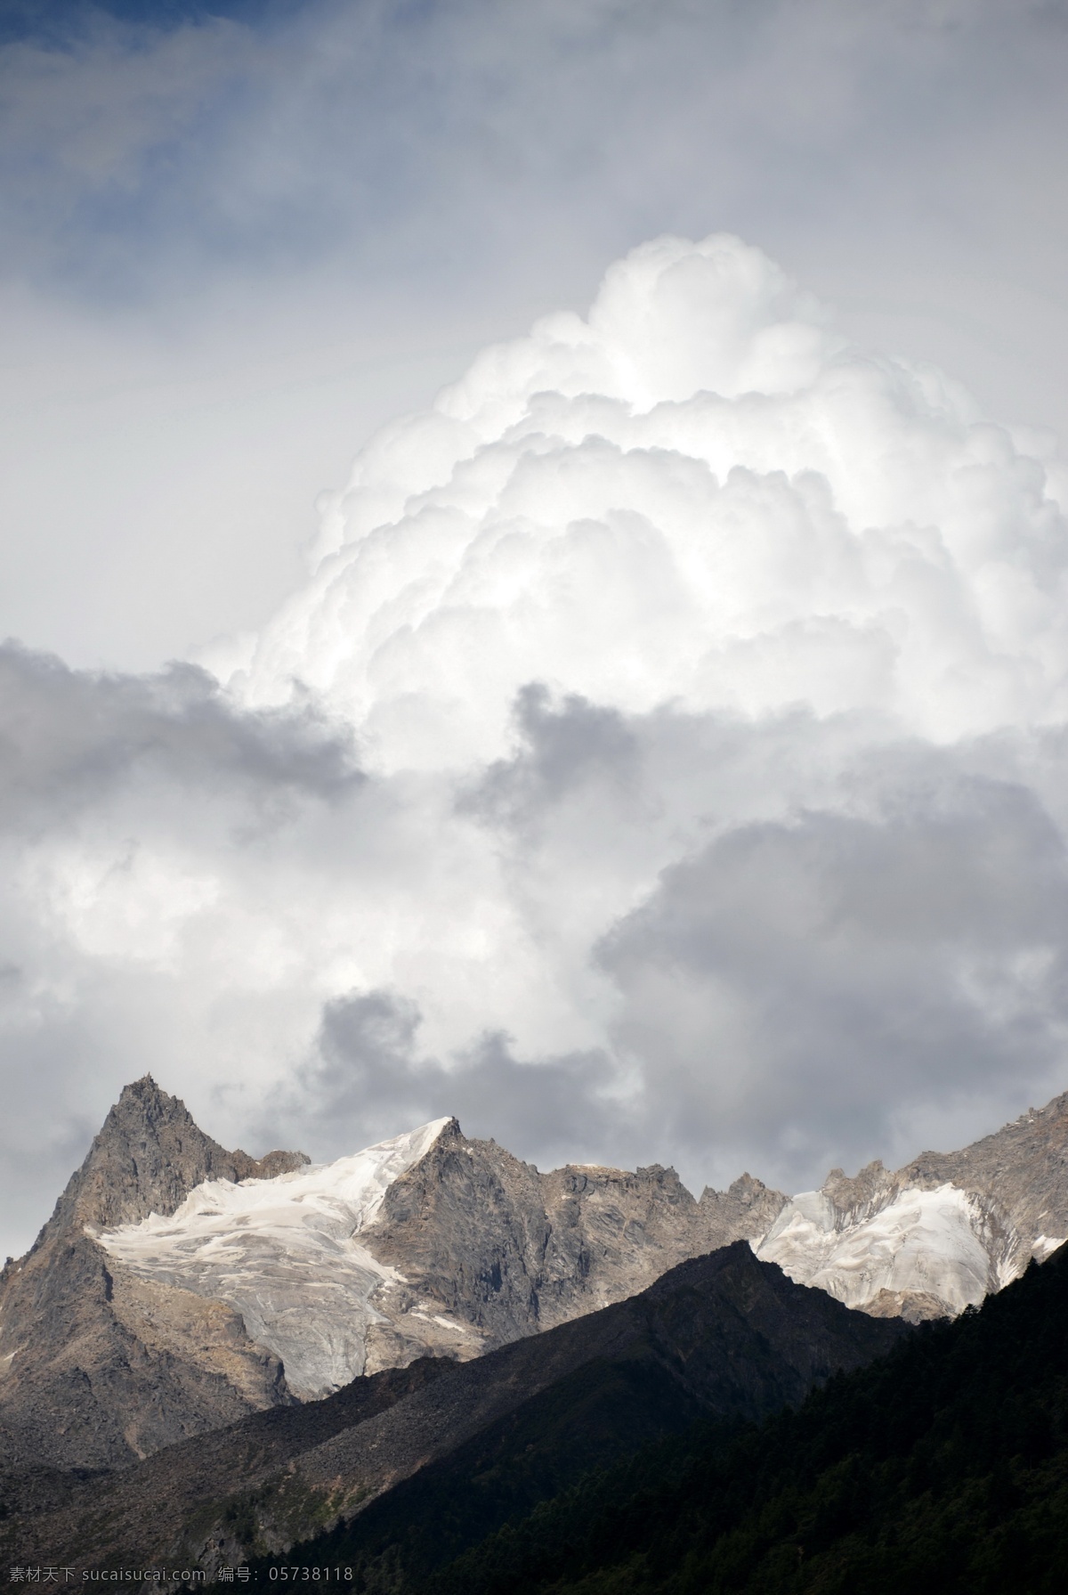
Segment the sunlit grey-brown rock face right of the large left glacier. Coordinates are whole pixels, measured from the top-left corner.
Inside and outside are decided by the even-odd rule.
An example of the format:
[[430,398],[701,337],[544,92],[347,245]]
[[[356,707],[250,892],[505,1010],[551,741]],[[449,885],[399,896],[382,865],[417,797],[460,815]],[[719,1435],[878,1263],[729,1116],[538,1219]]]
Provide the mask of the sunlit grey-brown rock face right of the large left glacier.
[[454,1317],[486,1351],[634,1295],[687,1257],[759,1238],[784,1203],[749,1176],[698,1203],[658,1164],[540,1174],[493,1140],[467,1140],[451,1120],[363,1233],[403,1273],[383,1290],[391,1327],[371,1330],[368,1367],[400,1361],[413,1308]]

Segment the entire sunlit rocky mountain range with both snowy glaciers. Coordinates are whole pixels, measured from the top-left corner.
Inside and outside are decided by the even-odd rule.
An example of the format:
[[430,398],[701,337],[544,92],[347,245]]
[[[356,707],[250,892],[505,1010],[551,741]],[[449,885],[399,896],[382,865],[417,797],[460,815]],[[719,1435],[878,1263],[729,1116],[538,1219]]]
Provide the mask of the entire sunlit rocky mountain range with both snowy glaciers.
[[960,1313],[1068,1235],[1068,1094],[789,1199],[748,1174],[542,1174],[443,1118],[309,1166],[226,1152],[128,1086],[0,1276],[0,1463],[115,1466],[419,1357],[465,1362],[746,1239],[874,1316]]

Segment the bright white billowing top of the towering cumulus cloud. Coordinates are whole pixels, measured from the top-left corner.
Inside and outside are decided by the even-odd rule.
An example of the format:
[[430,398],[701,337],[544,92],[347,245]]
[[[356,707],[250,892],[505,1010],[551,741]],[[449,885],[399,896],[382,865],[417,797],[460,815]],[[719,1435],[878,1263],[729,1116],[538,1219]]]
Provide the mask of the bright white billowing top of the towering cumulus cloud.
[[1065,553],[937,373],[843,349],[738,239],[662,238],[371,442],[245,691],[301,678],[383,769],[499,756],[529,681],[947,742],[1063,716]]

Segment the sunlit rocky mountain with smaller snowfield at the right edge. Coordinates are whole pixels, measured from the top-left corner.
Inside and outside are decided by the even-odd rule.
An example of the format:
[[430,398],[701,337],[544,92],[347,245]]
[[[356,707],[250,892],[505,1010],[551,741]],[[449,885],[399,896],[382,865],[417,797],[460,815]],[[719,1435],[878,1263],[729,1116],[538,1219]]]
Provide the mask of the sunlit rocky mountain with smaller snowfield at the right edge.
[[1068,1094],[963,1152],[891,1172],[832,1169],[795,1196],[757,1254],[850,1306],[907,1319],[961,1313],[1068,1235]]

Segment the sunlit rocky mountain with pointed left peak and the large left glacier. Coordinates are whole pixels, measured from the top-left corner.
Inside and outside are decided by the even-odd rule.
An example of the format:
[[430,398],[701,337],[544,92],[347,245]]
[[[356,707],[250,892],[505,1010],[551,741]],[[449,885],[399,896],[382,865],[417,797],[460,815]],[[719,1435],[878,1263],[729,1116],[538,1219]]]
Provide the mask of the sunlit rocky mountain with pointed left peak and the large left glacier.
[[764,1235],[748,1176],[548,1174],[437,1120],[255,1161],[145,1077],[0,1276],[0,1463],[113,1466],[418,1357],[469,1361]]

